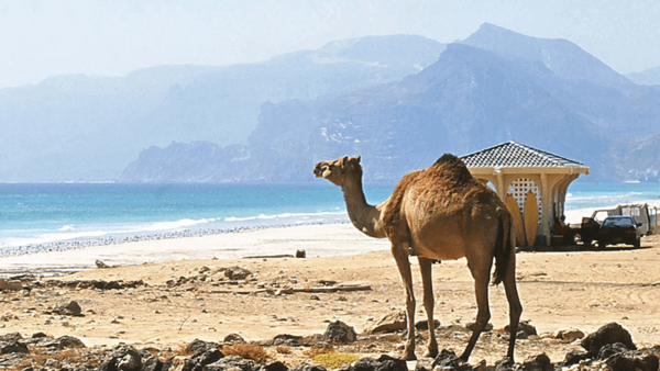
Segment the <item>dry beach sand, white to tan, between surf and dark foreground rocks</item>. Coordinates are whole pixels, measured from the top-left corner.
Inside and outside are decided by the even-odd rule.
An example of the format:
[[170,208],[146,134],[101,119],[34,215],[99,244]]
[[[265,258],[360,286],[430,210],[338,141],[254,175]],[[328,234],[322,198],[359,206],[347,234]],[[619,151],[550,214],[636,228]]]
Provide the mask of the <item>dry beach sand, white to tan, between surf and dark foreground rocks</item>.
[[[219,250],[240,251],[241,246],[254,245],[273,254],[305,249],[308,257],[212,259]],[[539,334],[547,335],[565,328],[588,334],[617,322],[630,331],[638,347],[660,345],[659,247],[660,238],[651,236],[642,238],[640,249],[620,246],[604,251],[519,252],[517,277],[522,319],[531,321]],[[0,334],[20,331],[30,336],[45,331],[55,337],[76,336],[88,346],[121,341],[136,347],[175,347],[195,338],[221,341],[231,333],[248,340],[268,340],[278,334],[319,334],[329,321],[337,319],[361,333],[385,314],[404,308],[400,279],[387,249],[387,240],[365,237],[351,225],[340,224],[2,258],[0,273],[44,271],[53,267],[89,269],[56,279],[144,280],[148,285],[123,290],[48,288],[29,294],[6,291],[0,297],[0,316],[4,319],[0,321]],[[314,257],[323,250],[377,251]],[[119,267],[90,269],[96,259]],[[228,283],[221,268],[232,266],[249,269],[255,280]],[[421,303],[417,268],[414,274]],[[169,280],[180,283],[168,285]],[[289,288],[316,288],[323,280],[369,285],[371,290],[279,294]],[[474,319],[473,281],[464,259],[436,265],[433,284],[436,318],[443,328]],[[84,317],[47,314],[70,301],[79,303]],[[418,310],[417,319],[424,319],[421,305]],[[502,285],[491,286],[491,312],[495,329],[508,323]],[[506,341],[499,335],[497,330],[482,335],[472,360],[501,359],[506,352]],[[460,352],[466,337],[468,334],[446,333],[439,338],[440,348]],[[394,338],[387,344],[361,346],[351,351],[398,355],[402,345]],[[516,357],[521,360],[546,352],[552,361],[561,361],[569,350],[576,348],[576,344],[548,336],[531,337],[518,341]],[[417,350],[421,356],[424,346],[419,345]]]

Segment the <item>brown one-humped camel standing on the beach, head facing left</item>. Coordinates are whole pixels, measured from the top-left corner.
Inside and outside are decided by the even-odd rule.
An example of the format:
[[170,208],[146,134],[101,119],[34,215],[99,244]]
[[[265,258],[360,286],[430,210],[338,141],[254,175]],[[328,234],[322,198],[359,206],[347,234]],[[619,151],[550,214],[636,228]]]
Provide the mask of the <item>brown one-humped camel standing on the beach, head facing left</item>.
[[[516,331],[522,306],[516,289],[516,251],[512,216],[497,194],[474,179],[463,161],[444,155],[424,170],[404,176],[392,195],[380,205],[366,203],[362,190],[360,157],[342,157],[322,161],[314,168],[322,177],[341,187],[353,225],[364,234],[389,239],[406,293],[408,339],[404,350],[407,360],[415,357],[415,295],[408,261],[419,259],[424,283],[424,305],[428,323],[433,323],[432,260],[465,257],[474,278],[479,307],[476,324],[461,359],[470,353],[491,318],[488,280],[493,259],[493,282],[504,282],[509,303],[510,338],[507,357],[514,359]],[[436,357],[438,342],[429,326],[428,351]]]

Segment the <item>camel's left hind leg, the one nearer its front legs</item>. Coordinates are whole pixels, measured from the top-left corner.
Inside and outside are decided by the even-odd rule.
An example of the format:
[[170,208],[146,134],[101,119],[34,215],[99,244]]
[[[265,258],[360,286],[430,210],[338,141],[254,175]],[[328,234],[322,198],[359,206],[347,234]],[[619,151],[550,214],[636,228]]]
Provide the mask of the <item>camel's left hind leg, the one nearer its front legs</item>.
[[[487,260],[487,259],[484,259]],[[461,355],[461,359],[468,361],[470,359],[470,355],[476,345],[476,340],[481,333],[484,330],[488,321],[491,321],[491,308],[488,306],[488,282],[491,279],[491,261],[480,261],[477,263],[473,261],[469,261],[468,266],[470,267],[470,271],[472,272],[472,277],[474,278],[474,293],[476,295],[476,322],[474,323],[474,328],[472,329],[472,336],[468,341],[468,346]]]

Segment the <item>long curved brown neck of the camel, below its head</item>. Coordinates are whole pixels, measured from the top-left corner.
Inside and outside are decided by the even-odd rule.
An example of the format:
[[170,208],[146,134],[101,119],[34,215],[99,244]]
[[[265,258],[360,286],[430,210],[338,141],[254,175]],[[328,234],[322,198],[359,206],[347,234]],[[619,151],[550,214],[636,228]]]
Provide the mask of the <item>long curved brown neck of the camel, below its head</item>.
[[362,176],[349,177],[342,186],[346,211],[351,223],[367,236],[385,238],[385,231],[381,223],[381,207],[366,203],[362,190]]

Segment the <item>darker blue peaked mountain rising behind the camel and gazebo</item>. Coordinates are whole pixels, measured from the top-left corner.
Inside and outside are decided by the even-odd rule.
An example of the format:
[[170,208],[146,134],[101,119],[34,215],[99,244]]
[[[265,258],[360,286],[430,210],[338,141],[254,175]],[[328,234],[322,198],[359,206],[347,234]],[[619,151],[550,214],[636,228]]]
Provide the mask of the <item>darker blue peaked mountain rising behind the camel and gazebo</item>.
[[[240,155],[219,165],[227,172],[204,181],[310,181],[314,164],[344,155],[362,155],[366,181],[396,181],[443,153],[506,140],[582,161],[591,180],[658,180],[658,102],[568,41],[485,24],[399,81],[263,104]],[[148,169],[139,159],[122,180],[145,181]]]

